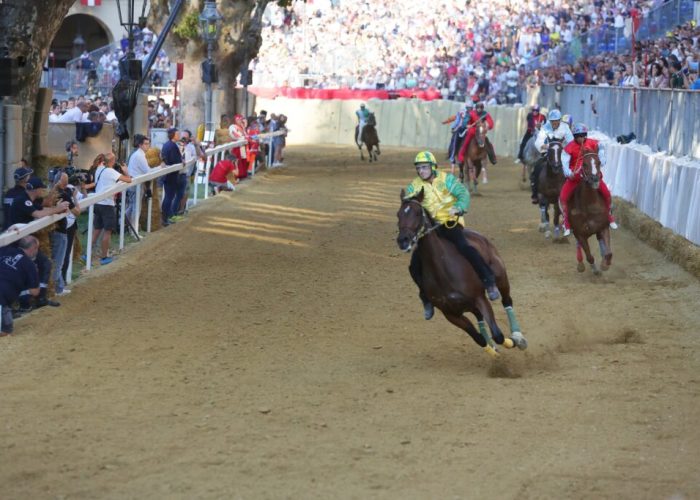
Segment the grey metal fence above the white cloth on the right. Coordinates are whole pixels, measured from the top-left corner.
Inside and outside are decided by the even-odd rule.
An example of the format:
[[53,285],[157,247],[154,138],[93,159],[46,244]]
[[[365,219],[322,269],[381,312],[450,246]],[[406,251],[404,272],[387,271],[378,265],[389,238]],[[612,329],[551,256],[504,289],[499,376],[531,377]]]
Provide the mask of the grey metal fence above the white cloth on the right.
[[652,151],[700,159],[700,92],[590,85],[543,85],[531,97],[589,128],[616,137],[634,132]]

